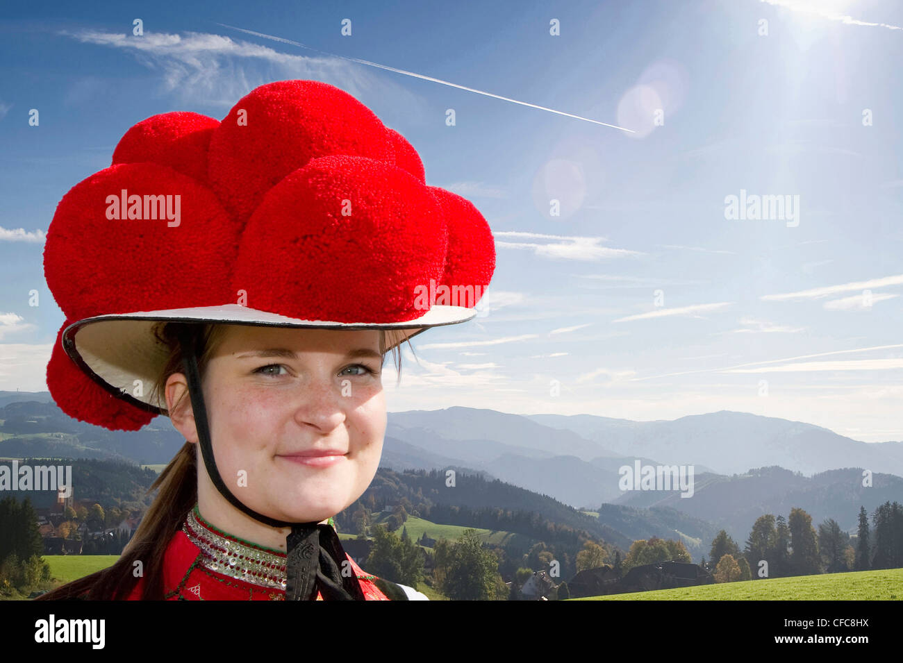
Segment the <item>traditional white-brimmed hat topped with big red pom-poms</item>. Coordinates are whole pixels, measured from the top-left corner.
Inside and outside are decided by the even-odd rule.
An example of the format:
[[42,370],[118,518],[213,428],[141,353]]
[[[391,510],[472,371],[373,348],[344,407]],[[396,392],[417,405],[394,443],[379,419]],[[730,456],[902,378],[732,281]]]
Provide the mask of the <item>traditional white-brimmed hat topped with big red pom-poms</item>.
[[71,417],[136,430],[166,410],[162,321],[396,330],[391,349],[473,318],[494,270],[486,220],[426,185],[401,134],[338,87],[270,83],[222,122],[135,124],[61,199],[48,387]]

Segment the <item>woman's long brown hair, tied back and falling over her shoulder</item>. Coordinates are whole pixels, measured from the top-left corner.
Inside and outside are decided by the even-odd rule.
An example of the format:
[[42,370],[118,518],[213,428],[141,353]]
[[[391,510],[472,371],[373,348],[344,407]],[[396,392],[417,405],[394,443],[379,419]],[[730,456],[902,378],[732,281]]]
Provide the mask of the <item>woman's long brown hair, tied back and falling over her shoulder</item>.
[[[182,349],[178,342],[178,326],[189,325],[191,333],[195,335],[195,346],[199,350],[198,372],[203,379],[210,357],[216,351],[223,338],[226,336],[228,325],[200,325],[192,323],[164,322],[154,327],[154,335],[169,347],[170,355],[163,366],[152,395],[158,402],[165,404],[163,389],[173,373],[184,373],[182,363]],[[392,330],[380,330],[379,350],[386,355],[386,345],[396,341]],[[410,341],[408,341],[410,346]],[[412,348],[413,349],[413,348]],[[401,380],[401,353],[399,346],[392,348],[395,359],[398,380]],[[182,396],[173,405],[177,410],[187,394]],[[153,399],[152,399],[153,402]],[[170,412],[165,412],[169,416]],[[116,564],[102,571],[85,576],[79,580],[57,587],[47,594],[39,596],[36,600],[60,600],[72,598],[87,598],[98,600],[122,600],[130,594],[138,582],[135,576],[135,563],[142,567],[144,576],[144,591],[141,595],[144,601],[163,600],[163,557],[169,546],[172,536],[182,526],[185,514],[191,511],[198,500],[198,467],[197,445],[186,442],[179,452],[172,458],[169,465],[163,468],[163,472],[156,478],[149,489],[149,493],[159,489],[154,497],[154,502],[144,513],[144,518],[135,530],[132,539],[126,545],[122,555]]]

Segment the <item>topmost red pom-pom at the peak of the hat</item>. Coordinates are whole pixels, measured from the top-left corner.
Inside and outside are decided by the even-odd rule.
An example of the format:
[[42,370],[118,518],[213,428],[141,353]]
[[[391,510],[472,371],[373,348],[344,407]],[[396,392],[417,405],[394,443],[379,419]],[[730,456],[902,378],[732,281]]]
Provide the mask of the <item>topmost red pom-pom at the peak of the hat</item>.
[[254,88],[214,131],[209,181],[228,211],[247,219],[279,180],[328,154],[391,162],[393,150],[377,115],[347,92],[281,80]]

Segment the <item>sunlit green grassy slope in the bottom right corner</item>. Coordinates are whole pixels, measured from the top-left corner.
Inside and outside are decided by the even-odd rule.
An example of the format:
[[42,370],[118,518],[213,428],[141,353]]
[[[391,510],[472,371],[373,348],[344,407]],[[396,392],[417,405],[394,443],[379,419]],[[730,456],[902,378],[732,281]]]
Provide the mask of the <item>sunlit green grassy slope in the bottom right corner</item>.
[[899,601],[903,568],[821,576],[768,578],[655,592],[593,596],[573,601]]

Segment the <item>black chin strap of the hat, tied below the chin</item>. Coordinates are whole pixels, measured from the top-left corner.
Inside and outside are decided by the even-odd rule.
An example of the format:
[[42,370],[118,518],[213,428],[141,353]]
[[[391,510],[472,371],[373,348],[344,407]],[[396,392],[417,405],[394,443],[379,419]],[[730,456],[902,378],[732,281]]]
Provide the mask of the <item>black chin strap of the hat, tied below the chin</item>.
[[207,419],[207,408],[200,389],[200,372],[198,370],[197,348],[191,328],[187,325],[178,328],[179,344],[182,346],[182,358],[188,378],[188,391],[191,396],[191,410],[194,414],[194,425],[198,431],[200,456],[210,481],[216,486],[219,494],[225,497],[238,511],[262,522],[270,527],[290,527],[292,532],[286,537],[286,601],[313,601],[320,591],[324,600],[328,601],[363,601],[364,593],[353,575],[343,575],[340,566],[347,561],[345,550],[335,529],[330,525],[318,522],[287,522],[275,520],[262,513],[257,513],[241,502],[226,486],[217,469],[213,456],[213,445]]

